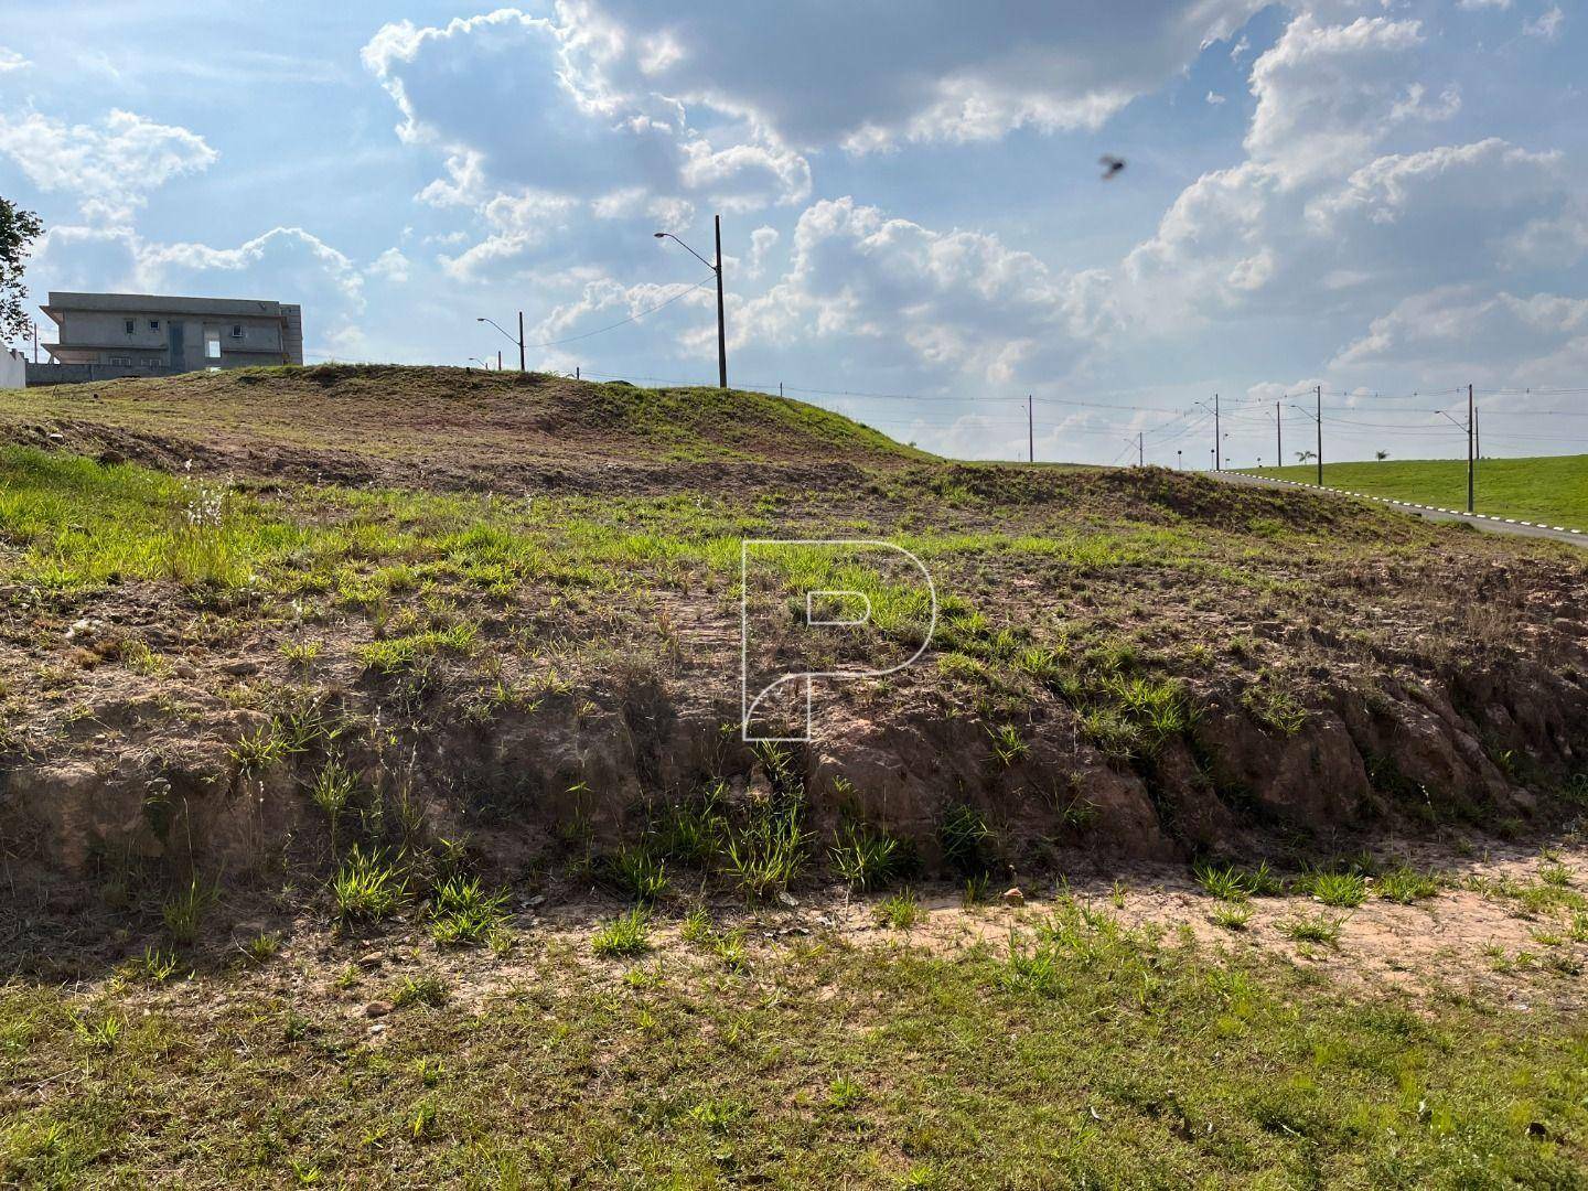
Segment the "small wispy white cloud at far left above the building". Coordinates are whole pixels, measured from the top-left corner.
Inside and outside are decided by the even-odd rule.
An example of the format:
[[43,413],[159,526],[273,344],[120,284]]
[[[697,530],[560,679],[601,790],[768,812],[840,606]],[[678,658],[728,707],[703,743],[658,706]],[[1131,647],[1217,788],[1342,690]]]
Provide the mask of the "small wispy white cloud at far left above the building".
[[187,129],[121,110],[97,125],[0,113],[0,152],[41,191],[70,192],[91,221],[108,224],[129,222],[151,191],[219,157]]

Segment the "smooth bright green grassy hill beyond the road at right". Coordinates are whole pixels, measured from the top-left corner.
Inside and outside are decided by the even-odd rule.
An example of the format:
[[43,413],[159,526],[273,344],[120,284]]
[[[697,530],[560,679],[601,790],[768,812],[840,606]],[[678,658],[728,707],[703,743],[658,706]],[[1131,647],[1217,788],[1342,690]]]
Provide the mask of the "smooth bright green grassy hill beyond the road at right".
[[[1318,468],[1266,467],[1251,475],[1312,484]],[[1323,483],[1421,505],[1467,507],[1466,459],[1324,464]],[[1475,511],[1588,529],[1588,454],[1478,461]]]

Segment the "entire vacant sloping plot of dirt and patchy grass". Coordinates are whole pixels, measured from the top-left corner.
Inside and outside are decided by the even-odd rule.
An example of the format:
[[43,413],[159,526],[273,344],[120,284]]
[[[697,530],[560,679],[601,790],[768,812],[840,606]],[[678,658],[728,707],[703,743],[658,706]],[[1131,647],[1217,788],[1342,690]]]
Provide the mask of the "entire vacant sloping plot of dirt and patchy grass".
[[[461,370],[0,443],[0,1181],[1583,1181],[1580,551]],[[937,584],[810,746],[746,537]]]

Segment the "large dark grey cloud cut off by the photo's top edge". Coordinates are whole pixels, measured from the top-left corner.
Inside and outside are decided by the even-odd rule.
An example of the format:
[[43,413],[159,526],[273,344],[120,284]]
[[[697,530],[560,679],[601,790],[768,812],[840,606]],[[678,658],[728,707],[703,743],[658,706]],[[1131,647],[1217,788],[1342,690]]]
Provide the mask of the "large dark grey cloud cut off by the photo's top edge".
[[581,62],[615,89],[742,113],[802,149],[864,152],[1100,127],[1261,6],[919,0],[900,21],[886,5],[783,5],[745,19],[715,0],[565,0],[559,13]]

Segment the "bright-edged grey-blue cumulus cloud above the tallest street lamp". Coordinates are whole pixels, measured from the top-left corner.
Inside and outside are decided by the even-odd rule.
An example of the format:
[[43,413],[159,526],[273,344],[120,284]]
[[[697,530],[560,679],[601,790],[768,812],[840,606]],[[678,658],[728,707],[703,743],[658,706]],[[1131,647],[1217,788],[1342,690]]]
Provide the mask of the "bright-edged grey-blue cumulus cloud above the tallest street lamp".
[[[399,21],[364,48],[402,116],[399,137],[445,154],[445,175],[419,198],[473,208],[492,224],[454,270],[475,275],[522,256],[575,208],[681,221],[694,200],[748,211],[810,192],[805,159],[753,121],[707,110],[702,125],[676,98],[613,86],[597,70],[603,54],[588,22],[572,8],[559,14]],[[665,46],[648,44],[645,62],[662,68]]]

